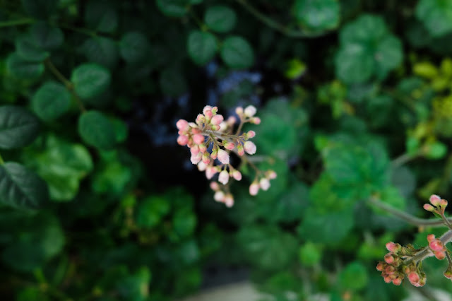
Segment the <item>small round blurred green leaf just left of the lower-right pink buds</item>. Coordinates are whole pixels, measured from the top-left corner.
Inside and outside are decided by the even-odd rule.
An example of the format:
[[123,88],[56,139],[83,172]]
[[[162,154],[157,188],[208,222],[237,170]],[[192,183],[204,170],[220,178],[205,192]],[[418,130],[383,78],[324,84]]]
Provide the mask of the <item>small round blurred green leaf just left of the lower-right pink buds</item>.
[[341,290],[360,290],[369,282],[369,276],[362,263],[353,261],[339,273],[338,280]]

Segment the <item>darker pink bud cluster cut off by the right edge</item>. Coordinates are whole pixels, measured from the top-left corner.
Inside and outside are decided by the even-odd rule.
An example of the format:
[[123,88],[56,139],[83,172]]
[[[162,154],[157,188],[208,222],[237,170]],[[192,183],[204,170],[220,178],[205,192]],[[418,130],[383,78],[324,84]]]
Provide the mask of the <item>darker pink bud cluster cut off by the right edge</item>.
[[389,253],[384,256],[384,261],[379,261],[376,266],[386,283],[400,285],[406,276],[412,285],[423,286],[427,277],[421,269],[421,261],[431,256],[439,260],[448,259],[449,265],[444,276],[452,280],[452,259],[446,248],[446,243],[452,240],[452,226],[444,216],[447,201],[436,194],[430,196],[429,201],[430,203],[424,204],[424,209],[441,216],[449,230],[439,238],[433,234],[427,235],[427,247],[420,249],[415,249],[412,245],[402,247],[400,244],[388,242],[386,248]]

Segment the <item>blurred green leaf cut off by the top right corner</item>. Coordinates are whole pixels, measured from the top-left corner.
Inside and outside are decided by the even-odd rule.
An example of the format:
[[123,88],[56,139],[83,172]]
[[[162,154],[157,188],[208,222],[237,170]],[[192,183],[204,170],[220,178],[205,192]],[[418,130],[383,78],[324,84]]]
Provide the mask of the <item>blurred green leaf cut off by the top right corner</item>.
[[446,35],[452,31],[451,1],[420,0],[415,15],[433,37]]

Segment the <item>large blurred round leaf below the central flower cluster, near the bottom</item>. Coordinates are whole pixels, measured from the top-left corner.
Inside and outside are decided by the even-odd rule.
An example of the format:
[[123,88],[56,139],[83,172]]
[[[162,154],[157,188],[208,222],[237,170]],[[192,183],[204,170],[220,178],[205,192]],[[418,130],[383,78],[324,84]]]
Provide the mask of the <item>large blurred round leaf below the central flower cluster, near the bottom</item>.
[[283,269],[297,254],[297,240],[275,226],[242,227],[237,240],[246,258],[264,270]]

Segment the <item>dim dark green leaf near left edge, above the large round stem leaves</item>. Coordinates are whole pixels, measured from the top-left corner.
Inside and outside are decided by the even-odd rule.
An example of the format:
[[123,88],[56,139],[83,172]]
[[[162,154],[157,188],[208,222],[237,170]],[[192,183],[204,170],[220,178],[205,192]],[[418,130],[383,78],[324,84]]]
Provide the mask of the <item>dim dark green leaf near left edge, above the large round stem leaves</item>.
[[35,61],[27,61],[16,52],[8,55],[6,69],[16,78],[36,79],[44,73],[44,64]]

